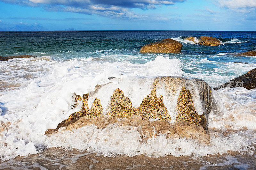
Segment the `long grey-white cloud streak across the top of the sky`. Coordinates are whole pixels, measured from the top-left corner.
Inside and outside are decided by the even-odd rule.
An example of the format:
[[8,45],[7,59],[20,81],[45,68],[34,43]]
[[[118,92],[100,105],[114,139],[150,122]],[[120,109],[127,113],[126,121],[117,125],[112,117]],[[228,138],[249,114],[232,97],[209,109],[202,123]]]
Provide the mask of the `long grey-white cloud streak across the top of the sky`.
[[[155,9],[159,5],[173,5],[186,0],[2,0],[10,4],[42,6],[47,11],[64,11],[101,15],[109,18],[145,19],[136,14],[133,8]],[[155,17],[156,20],[165,20]]]

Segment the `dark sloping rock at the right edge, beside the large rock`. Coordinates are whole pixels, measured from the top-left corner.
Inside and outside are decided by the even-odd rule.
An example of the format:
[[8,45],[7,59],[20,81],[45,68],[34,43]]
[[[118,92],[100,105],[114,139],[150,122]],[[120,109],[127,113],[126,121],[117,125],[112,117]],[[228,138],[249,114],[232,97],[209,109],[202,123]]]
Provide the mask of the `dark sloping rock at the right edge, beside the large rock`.
[[219,87],[214,88],[218,90],[224,87],[244,87],[248,90],[256,88],[256,68],[248,71],[248,73],[234,78]]

